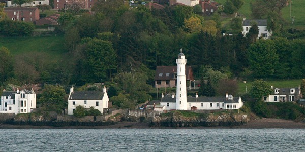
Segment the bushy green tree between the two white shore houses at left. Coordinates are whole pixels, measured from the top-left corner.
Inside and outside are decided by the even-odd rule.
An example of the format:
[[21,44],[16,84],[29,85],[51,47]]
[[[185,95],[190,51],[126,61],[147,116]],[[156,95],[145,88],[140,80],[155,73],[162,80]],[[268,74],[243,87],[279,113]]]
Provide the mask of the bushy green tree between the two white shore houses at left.
[[45,85],[42,91],[40,102],[48,110],[61,112],[66,107],[65,89],[62,86]]

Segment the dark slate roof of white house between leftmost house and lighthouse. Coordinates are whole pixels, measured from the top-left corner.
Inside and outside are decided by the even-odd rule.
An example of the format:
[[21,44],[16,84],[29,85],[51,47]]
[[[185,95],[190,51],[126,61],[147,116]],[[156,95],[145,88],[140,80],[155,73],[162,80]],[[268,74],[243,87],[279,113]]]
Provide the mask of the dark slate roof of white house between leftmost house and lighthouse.
[[73,91],[69,100],[102,100],[103,91]]

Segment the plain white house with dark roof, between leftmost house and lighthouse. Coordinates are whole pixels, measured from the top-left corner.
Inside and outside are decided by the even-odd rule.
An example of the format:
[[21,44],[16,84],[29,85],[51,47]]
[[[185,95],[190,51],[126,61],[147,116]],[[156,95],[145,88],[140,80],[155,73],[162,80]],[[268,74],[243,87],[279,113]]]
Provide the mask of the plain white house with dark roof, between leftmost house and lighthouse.
[[74,91],[72,87],[68,98],[68,115],[73,115],[77,105],[82,105],[86,109],[93,106],[103,113],[104,109],[108,109],[108,101],[106,87],[103,91]]

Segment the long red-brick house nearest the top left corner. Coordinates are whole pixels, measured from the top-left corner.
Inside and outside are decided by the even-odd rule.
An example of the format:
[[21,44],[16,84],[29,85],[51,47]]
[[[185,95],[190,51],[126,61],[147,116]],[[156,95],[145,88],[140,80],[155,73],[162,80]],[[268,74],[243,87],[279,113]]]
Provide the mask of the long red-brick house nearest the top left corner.
[[9,7],[4,12],[13,21],[24,21],[34,23],[39,20],[39,10],[36,7]]

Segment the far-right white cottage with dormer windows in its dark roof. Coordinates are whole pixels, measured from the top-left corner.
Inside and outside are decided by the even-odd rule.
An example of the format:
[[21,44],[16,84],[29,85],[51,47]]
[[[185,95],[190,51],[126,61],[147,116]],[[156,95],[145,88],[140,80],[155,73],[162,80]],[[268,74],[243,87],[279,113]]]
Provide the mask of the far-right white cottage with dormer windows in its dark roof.
[[263,97],[265,102],[295,102],[302,98],[301,87],[297,88],[273,88],[273,93]]

